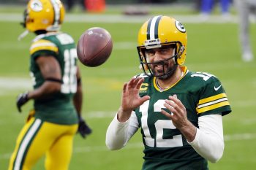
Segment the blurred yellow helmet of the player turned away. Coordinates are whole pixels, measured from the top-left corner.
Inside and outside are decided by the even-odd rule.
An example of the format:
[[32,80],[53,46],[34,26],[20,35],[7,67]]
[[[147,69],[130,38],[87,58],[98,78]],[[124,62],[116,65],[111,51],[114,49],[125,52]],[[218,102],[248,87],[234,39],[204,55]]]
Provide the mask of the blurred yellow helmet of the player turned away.
[[30,0],[22,24],[31,32],[59,31],[64,14],[64,5],[59,0]]

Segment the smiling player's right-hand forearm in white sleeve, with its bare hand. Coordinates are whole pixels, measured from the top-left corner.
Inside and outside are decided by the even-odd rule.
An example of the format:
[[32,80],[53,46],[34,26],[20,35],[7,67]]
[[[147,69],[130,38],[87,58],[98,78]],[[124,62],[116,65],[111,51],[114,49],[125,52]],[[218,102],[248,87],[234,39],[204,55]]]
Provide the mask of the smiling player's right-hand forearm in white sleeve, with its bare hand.
[[205,115],[198,118],[199,128],[196,128],[188,119],[187,111],[177,96],[169,96],[164,106],[173,114],[162,110],[162,114],[173,121],[173,125],[181,131],[187,142],[211,163],[222,158],[224,150],[222,115]]

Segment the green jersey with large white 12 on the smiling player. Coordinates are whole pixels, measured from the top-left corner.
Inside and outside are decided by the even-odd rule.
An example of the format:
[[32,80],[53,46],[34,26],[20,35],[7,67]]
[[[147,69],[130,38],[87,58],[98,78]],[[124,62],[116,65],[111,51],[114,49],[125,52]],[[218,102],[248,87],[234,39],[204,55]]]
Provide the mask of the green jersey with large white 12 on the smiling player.
[[144,144],[143,169],[208,169],[206,159],[197,154],[172,121],[160,112],[161,109],[167,111],[164,103],[168,96],[177,95],[187,109],[188,120],[197,128],[200,116],[231,112],[225,90],[217,77],[189,72],[185,66],[181,68],[183,77],[163,91],[158,88],[155,77],[139,75],[144,77],[140,96],[151,96],[149,101],[135,109]]

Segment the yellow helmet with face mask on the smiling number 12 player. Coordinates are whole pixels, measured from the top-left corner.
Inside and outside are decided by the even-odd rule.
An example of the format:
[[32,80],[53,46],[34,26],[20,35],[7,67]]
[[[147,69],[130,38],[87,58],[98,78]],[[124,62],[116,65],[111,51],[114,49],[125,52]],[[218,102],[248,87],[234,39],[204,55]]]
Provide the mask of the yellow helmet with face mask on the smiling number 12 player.
[[[143,71],[149,69],[148,58],[145,51],[152,48],[170,45],[175,48],[174,58],[177,65],[185,62],[187,54],[187,32],[184,26],[174,18],[167,16],[155,16],[143,24],[138,32],[138,54]],[[149,72],[152,74],[151,70]],[[147,74],[147,73],[146,73]]]

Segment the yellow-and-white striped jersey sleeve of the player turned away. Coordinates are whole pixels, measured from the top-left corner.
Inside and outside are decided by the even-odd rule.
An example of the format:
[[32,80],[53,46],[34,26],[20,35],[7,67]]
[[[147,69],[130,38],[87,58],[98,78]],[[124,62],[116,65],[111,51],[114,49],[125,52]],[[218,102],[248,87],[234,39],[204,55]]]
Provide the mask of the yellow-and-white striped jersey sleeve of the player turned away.
[[33,42],[29,53],[32,58],[37,59],[37,57],[45,55],[56,56],[59,53],[59,48],[53,42],[50,42],[47,39],[39,39],[36,42]]

